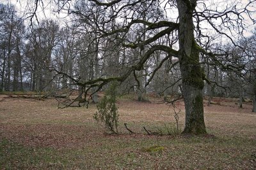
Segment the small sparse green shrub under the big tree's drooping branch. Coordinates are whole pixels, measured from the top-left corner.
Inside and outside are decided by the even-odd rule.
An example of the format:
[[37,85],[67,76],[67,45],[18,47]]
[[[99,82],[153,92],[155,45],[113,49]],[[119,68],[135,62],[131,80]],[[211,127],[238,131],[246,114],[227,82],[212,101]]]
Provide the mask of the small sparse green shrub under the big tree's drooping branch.
[[93,118],[97,122],[105,124],[108,131],[117,134],[118,133],[118,108],[116,107],[118,83],[114,81],[111,83],[108,90],[106,90],[105,96],[97,104],[97,110]]

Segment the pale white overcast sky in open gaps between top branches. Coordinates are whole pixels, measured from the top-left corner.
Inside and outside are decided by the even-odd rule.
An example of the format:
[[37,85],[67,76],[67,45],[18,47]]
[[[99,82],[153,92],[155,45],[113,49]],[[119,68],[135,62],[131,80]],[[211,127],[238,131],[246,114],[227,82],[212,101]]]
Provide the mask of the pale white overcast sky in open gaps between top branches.
[[[12,3],[15,8],[18,11],[18,15],[20,17],[24,17],[27,18],[28,20],[27,22],[30,21],[31,15],[33,15],[33,11],[35,11],[35,0],[5,0],[4,3]],[[248,3],[248,0],[240,0],[240,1],[234,1],[234,0],[229,0],[229,1],[217,1],[217,0],[211,0],[211,1],[198,1],[198,7],[197,10],[198,11],[202,11],[204,10],[204,5],[207,9],[210,9],[212,11],[221,11],[223,10],[226,6],[234,6],[234,4],[237,4],[236,8],[241,8],[243,9],[243,4]],[[166,17],[168,18],[168,20],[177,20],[177,11],[175,11],[174,8],[171,8],[170,6],[165,5],[166,3],[163,1],[163,3],[161,3],[162,8],[164,8],[165,10],[165,14]],[[224,8],[223,8],[224,7]],[[250,7],[251,10],[253,9],[253,6]],[[68,17],[67,13],[65,13],[65,11],[60,11],[58,12],[58,6],[56,6],[56,1],[38,1],[38,8],[36,9],[36,16],[33,17],[33,21],[36,21],[36,17],[38,18],[38,21],[40,20],[44,20],[45,18],[52,18],[54,20],[58,20],[58,22],[60,22],[60,25],[62,25],[61,23],[66,23],[67,20],[70,20],[70,17]],[[252,20],[250,20],[250,18],[246,15],[243,15],[244,18],[244,23],[246,23],[246,25],[244,25],[244,36],[250,36],[252,34],[252,31],[254,30],[254,26],[253,26],[253,22]],[[255,15],[252,16],[252,18],[256,18]],[[214,21],[214,23],[216,25],[220,25],[221,23],[221,19],[219,18],[218,20],[216,19]],[[214,30],[212,29],[211,25],[209,25],[207,22],[201,22],[200,26],[203,28],[202,32],[207,32],[207,34],[212,34],[212,32],[214,32]],[[229,27],[226,29],[230,29]],[[228,30],[227,30],[228,31]],[[208,33],[209,32],[209,33]],[[231,33],[228,34],[230,37],[233,38],[238,38],[236,31],[232,31]]]

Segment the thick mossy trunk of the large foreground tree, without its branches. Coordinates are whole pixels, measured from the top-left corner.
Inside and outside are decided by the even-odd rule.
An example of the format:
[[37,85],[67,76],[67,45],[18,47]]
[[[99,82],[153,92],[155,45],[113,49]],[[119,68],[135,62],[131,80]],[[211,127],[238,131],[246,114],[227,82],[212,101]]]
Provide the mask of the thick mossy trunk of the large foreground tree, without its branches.
[[[196,4],[177,0],[179,10],[179,60],[182,76],[186,121],[183,134],[205,134],[203,71],[199,63],[199,52],[195,43],[193,10]],[[195,3],[195,1],[193,1]]]

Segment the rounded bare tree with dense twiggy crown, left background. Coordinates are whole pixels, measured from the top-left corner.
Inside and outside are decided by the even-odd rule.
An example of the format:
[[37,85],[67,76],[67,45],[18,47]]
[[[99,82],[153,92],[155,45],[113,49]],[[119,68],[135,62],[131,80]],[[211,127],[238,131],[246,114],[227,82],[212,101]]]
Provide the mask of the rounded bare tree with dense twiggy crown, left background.
[[28,34],[28,63],[31,66],[32,90],[52,88],[52,52],[58,43],[59,25],[53,20],[43,20],[39,26],[33,25]]

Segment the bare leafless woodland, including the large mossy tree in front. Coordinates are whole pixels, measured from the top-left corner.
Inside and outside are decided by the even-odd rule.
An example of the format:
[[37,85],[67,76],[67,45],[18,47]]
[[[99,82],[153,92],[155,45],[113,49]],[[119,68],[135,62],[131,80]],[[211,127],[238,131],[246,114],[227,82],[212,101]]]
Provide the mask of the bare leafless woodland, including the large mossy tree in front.
[[[98,103],[118,82],[138,101],[184,99],[184,134],[206,134],[203,97],[237,97],[256,112],[256,1],[45,1],[20,16],[0,4],[0,89],[70,95],[63,106]],[[64,24],[63,24],[64,23]]]

